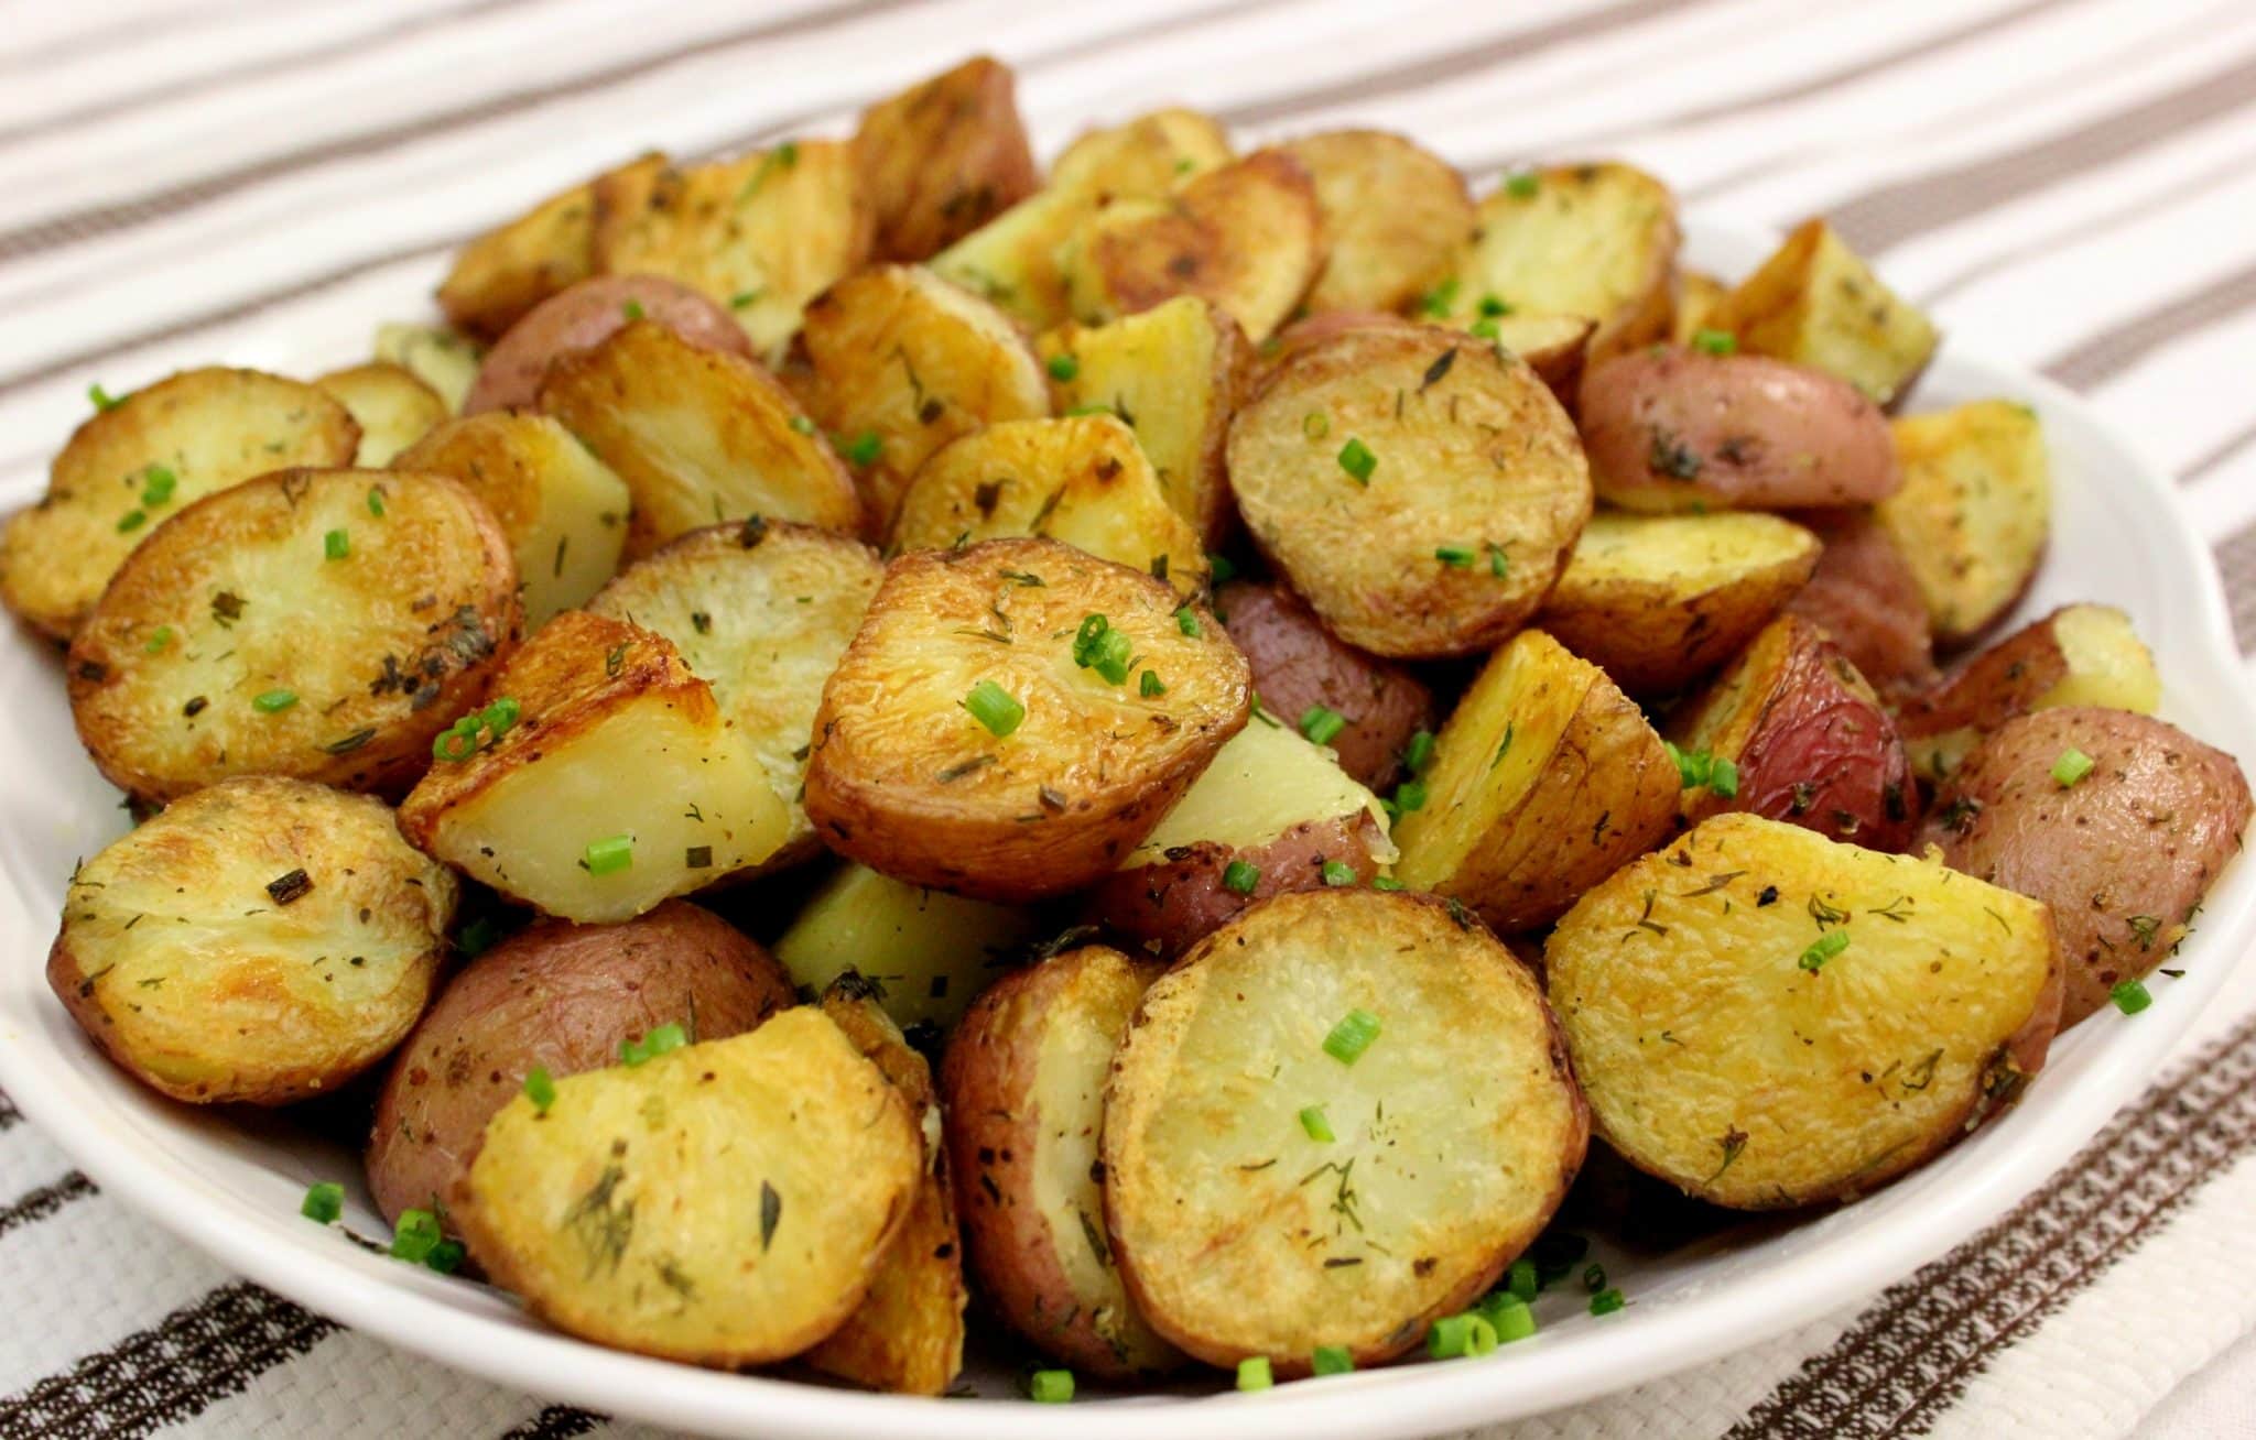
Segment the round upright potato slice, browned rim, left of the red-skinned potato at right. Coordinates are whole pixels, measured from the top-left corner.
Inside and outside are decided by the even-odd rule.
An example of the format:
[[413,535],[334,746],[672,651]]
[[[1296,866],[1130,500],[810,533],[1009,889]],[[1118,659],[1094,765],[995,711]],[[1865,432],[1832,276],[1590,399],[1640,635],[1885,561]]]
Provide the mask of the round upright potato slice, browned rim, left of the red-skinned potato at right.
[[1437,327],[1351,329],[1288,361],[1230,424],[1230,485],[1324,624],[1381,656],[1493,647],[1590,518],[1543,381]]

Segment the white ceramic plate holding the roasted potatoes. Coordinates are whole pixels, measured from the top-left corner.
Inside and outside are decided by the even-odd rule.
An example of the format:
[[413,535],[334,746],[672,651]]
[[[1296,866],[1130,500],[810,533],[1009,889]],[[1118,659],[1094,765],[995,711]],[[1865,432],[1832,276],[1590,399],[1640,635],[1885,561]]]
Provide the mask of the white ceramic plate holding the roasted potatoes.
[[[1737,275],[1762,237],[1694,225],[1690,259]],[[386,295],[388,315],[422,297]],[[253,336],[244,365],[309,374],[359,358],[386,311],[343,334]],[[147,379],[147,376],[115,376]],[[1951,338],[1913,408],[2003,394],[2033,403],[2053,448],[2053,550],[2024,604],[2066,599],[2130,611],[2154,647],[2164,714],[2236,755],[2256,755],[2256,708],[2209,548],[2177,512],[2168,478],[2048,381],[1983,361]],[[54,437],[63,442],[61,435]],[[20,498],[20,496],[11,496]],[[124,1197],[221,1264],[404,1350],[539,1395],[715,1435],[1011,1440],[1056,1435],[1065,1417],[1011,1397],[1002,1370],[975,1372],[981,1399],[862,1395],[790,1379],[720,1375],[598,1350],[523,1318],[483,1287],[370,1255],[298,1217],[311,1181],[359,1190],[359,1161],[282,1120],[199,1113],[138,1088],[79,1034],[43,978],[72,861],[124,829],[117,795],[83,759],[52,651],[0,635],[0,1086],[104,1190]],[[2159,980],[2152,1010],[2100,1012],[2053,1046],[2021,1104],[1933,1165],[1798,1228],[1751,1228],[1654,1260],[1600,1251],[1629,1294],[1593,1318],[1579,1294],[1545,1296],[1543,1332],[1480,1361],[1417,1363],[1288,1384],[1261,1395],[1173,1393],[1087,1399],[1078,1440],[1232,1440],[1426,1435],[1507,1420],[1636,1386],[1717,1359],[1909,1275],[2001,1215],[2132,1100],[2170,1043],[2218,992],[2256,933],[2256,868],[2233,863],[2186,942],[2186,978]],[[347,1224],[384,1235],[356,1197]]]

